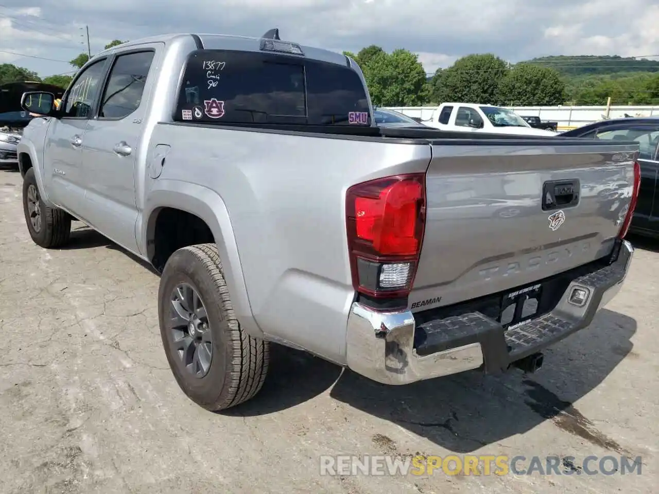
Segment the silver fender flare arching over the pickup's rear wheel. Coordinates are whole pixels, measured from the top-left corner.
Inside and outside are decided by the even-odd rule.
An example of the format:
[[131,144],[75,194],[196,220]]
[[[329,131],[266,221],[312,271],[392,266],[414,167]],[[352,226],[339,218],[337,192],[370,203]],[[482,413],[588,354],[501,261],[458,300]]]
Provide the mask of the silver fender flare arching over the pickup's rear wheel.
[[238,252],[238,245],[233,234],[229,211],[222,198],[210,188],[179,180],[160,178],[154,182],[146,198],[142,225],[142,252],[151,260],[153,258],[153,242],[158,210],[162,207],[173,207],[202,219],[215,238],[217,250],[222,262],[222,271],[229,288],[233,309],[236,312],[241,327],[255,338],[263,338],[263,331],[256,323],[249,302],[247,287],[243,276],[243,267]]

